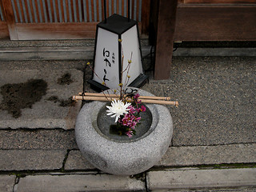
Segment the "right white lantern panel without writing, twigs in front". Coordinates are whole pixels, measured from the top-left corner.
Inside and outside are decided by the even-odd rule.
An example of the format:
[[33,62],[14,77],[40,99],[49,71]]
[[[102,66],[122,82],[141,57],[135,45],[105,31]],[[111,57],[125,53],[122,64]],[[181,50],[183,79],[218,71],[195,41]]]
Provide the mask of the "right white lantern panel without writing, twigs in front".
[[[124,63],[123,69],[125,70],[128,66],[128,60],[131,58],[131,64],[129,71],[126,70],[122,75],[122,82],[126,85],[129,85],[130,82],[133,82],[139,74],[143,74],[142,71],[142,58],[141,52],[139,50],[138,42],[138,30],[137,26],[133,26],[130,30],[127,30],[122,34],[122,49],[124,54]],[[131,55],[132,54],[132,55]],[[130,75],[129,82],[127,82],[127,73]]]

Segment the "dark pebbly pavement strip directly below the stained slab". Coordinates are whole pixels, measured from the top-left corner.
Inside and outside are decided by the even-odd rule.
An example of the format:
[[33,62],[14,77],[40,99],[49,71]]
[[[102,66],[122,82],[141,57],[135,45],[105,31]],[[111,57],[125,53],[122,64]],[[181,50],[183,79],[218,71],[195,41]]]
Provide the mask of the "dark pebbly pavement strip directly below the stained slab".
[[0,130],[0,150],[78,149],[74,130],[17,129]]

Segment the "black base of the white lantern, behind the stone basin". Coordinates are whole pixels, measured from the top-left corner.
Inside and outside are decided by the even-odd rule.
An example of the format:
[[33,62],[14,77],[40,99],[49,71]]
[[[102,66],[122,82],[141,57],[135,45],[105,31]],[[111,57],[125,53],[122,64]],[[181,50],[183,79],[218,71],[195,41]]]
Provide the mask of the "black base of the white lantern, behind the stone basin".
[[[139,74],[137,78],[134,79],[133,82],[131,82],[128,86],[133,86],[140,88],[148,82],[148,76],[146,74]],[[102,85],[99,82],[96,82],[94,80],[88,80],[87,81],[90,84],[90,88],[97,91],[102,92],[103,90],[109,90],[110,88],[107,86]]]

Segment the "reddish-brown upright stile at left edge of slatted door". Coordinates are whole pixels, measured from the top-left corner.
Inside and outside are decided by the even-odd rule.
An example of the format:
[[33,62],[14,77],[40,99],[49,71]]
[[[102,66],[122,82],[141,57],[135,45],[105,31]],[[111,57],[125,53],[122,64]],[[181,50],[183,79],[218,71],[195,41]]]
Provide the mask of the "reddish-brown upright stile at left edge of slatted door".
[[18,40],[18,34],[16,31],[15,19],[14,19],[14,11],[11,5],[10,0],[2,0],[3,10],[6,16],[6,24],[8,26],[10,39]]

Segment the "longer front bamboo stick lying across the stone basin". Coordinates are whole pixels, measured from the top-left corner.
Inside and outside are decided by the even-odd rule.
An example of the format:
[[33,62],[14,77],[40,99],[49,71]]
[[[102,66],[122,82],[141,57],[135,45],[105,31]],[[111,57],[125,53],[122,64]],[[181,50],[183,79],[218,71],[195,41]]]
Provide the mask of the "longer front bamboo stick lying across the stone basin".
[[[118,97],[115,95],[115,97],[106,98],[105,96],[102,97],[95,97],[95,96],[73,96],[73,100],[87,100],[87,101],[101,101],[101,102],[107,102],[112,101],[114,99],[118,99]],[[162,101],[162,100],[155,100],[155,99],[141,99],[142,102],[145,103],[154,103],[154,104],[162,104],[162,105],[172,105],[172,106],[178,106],[178,102],[174,101]],[[129,101],[129,100],[128,100]]]

